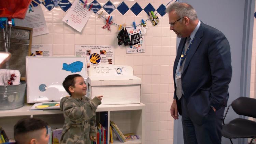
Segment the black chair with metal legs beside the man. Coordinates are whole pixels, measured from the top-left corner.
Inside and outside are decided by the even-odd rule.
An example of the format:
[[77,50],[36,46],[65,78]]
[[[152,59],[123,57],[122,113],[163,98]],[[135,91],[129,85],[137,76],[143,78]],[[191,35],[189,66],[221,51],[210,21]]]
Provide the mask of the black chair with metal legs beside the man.
[[[235,99],[229,106],[232,106],[233,110],[239,114],[248,117],[256,118],[256,99],[248,97],[239,97]],[[256,122],[243,118],[236,118],[231,120],[228,124],[224,124],[225,117],[228,109],[224,115],[222,136],[229,138],[233,144],[233,138],[251,138],[249,144],[256,138]]]

